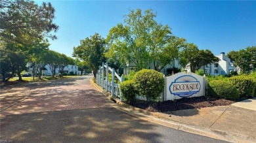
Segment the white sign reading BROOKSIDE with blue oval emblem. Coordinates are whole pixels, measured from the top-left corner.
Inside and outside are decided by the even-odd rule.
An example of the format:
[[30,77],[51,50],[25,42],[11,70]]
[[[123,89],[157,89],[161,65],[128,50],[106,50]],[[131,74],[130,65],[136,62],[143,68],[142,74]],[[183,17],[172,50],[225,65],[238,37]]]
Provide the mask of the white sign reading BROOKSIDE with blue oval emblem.
[[165,77],[165,81],[165,101],[205,95],[205,77],[198,74],[179,72]]

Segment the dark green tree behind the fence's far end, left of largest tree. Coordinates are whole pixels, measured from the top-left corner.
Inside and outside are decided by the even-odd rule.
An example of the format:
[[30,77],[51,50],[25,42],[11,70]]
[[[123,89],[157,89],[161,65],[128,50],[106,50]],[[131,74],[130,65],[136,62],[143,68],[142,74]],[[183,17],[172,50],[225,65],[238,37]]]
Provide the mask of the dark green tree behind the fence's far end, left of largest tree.
[[98,33],[95,33],[95,35],[81,40],[80,45],[74,47],[73,56],[85,61],[96,77],[98,67],[102,65],[102,62],[106,61],[104,56],[104,52],[106,51],[105,46],[105,39]]

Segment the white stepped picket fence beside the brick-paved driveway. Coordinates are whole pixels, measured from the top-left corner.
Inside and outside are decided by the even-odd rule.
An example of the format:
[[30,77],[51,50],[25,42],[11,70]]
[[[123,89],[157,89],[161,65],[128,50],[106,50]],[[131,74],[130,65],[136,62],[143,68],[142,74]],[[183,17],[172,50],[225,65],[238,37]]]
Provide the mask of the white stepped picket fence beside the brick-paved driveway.
[[[108,81],[110,75],[112,76],[112,81]],[[119,97],[120,101],[122,101],[120,84],[115,83],[115,76],[120,83],[123,82],[123,76],[120,77],[114,68],[108,67],[108,63],[106,65],[102,63],[102,66],[96,73],[96,84],[102,87],[102,89],[105,89],[107,93],[110,92],[112,97]]]

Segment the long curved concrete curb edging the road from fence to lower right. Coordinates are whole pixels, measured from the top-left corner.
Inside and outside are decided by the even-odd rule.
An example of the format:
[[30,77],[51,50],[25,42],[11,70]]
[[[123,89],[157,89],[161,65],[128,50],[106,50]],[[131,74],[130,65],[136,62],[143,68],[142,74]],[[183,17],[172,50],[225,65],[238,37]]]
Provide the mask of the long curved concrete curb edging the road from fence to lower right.
[[[111,95],[108,95],[104,89],[99,87],[98,85],[95,84],[92,80],[93,78],[90,79],[91,85],[95,86],[100,92],[102,92],[108,99],[111,101],[114,101],[116,104],[119,106],[114,106],[114,108],[117,108],[131,116],[135,116],[140,119],[144,119],[153,123],[158,123],[160,125],[166,126],[166,127],[171,127],[173,129],[178,129],[181,131],[185,131],[188,133],[194,133],[197,135],[202,135],[202,136],[208,136],[211,138],[216,138],[219,140],[224,140],[227,142],[256,142],[256,137],[255,136],[246,136],[246,135],[238,135],[238,134],[233,134],[233,133],[225,133],[223,131],[215,131],[211,129],[203,129],[200,127],[194,127],[191,125],[186,125],[184,123],[179,123],[177,121],[171,120],[169,115],[163,114],[160,112],[150,112],[146,111],[134,106],[131,106],[129,104],[121,103],[119,101],[119,98],[117,97],[111,97]],[[121,106],[121,107],[120,107]]]

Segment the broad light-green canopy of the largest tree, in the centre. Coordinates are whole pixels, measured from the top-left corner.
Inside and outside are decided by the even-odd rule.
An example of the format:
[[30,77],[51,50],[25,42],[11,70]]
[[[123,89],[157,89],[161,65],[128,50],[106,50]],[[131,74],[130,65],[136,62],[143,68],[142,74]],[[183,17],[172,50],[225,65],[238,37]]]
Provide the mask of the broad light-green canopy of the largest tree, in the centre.
[[106,39],[110,44],[108,60],[122,65],[134,63],[138,70],[154,63],[154,69],[161,71],[177,57],[184,39],[173,36],[168,25],[158,24],[156,16],[152,9],[144,14],[140,9],[131,10],[123,24],[112,27]]

